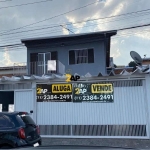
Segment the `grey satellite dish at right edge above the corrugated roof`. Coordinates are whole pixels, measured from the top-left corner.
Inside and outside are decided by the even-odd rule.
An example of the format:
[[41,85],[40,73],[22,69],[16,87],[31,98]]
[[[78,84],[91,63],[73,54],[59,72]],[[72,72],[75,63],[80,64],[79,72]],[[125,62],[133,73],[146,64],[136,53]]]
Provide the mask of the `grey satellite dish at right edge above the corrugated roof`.
[[138,67],[141,68],[142,72],[145,72],[145,71],[147,71],[149,69],[149,65],[147,65],[145,67],[142,66],[142,61],[143,60],[142,60],[141,56],[137,52],[131,51],[130,52],[130,56],[132,57],[132,59],[134,60],[134,62],[138,65]]

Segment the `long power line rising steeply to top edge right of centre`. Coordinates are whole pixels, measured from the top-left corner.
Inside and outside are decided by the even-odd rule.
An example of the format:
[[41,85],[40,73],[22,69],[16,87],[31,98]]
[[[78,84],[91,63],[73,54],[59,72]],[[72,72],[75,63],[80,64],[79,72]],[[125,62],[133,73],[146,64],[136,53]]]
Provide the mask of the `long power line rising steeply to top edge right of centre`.
[[[100,0],[96,1],[96,2],[93,2],[93,3],[90,3],[90,4],[87,4],[85,6],[82,6],[82,7],[79,7],[79,8],[76,8],[76,9],[73,9],[73,10],[70,10],[70,11],[67,11],[65,13],[62,13],[62,14],[59,14],[59,15],[56,15],[56,16],[53,16],[53,17],[50,17],[50,18],[47,18],[47,19],[44,19],[44,20],[41,20],[41,21],[38,21],[38,22],[34,22],[34,23],[31,23],[31,24],[28,24],[28,25],[25,25],[25,26],[22,26],[22,27],[19,27],[19,28],[14,28],[14,29],[11,29],[11,30],[8,30],[6,32],[10,32],[10,31],[14,31],[14,30],[18,30],[18,29],[22,29],[22,28],[25,28],[25,27],[28,27],[28,26],[31,26],[31,25],[34,25],[34,24],[38,24],[38,23],[41,23],[41,22],[44,22],[44,21],[47,21],[47,20],[50,20],[50,19],[53,19],[53,18],[56,18],[56,17],[60,17],[62,15],[65,15],[65,14],[68,14],[70,12],[74,12],[76,10],[79,10],[79,9],[82,9],[82,8],[85,8],[85,7],[88,7],[90,5],[93,5],[93,4],[96,4],[97,2],[100,2]],[[4,32],[4,33],[6,33]]]

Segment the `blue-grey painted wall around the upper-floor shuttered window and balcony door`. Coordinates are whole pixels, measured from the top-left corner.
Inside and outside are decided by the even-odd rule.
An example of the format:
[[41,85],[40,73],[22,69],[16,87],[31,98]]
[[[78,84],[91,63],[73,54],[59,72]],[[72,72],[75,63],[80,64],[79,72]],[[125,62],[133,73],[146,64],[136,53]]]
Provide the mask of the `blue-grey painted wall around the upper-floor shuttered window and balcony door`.
[[[90,64],[75,64],[69,65],[69,50],[73,49],[82,49],[82,48],[94,48],[94,63]],[[31,48],[28,46],[27,49],[27,62],[30,62],[30,53],[39,53],[39,52],[51,52],[58,51],[58,60],[65,65],[65,70],[71,69],[72,74],[78,73],[80,75],[85,75],[90,73],[92,75],[98,75],[99,72],[102,74],[106,73],[106,51],[104,47],[104,41],[99,40],[95,42],[88,42],[82,44],[73,44],[68,46],[57,46],[49,47],[45,46],[44,48]]]

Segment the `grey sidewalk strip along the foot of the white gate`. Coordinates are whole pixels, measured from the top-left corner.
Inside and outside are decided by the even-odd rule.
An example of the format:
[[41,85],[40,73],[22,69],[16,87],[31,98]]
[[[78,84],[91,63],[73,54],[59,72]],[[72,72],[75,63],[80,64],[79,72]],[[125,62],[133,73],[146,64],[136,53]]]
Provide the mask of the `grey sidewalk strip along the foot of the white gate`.
[[150,140],[42,138],[42,145],[89,145],[150,149]]

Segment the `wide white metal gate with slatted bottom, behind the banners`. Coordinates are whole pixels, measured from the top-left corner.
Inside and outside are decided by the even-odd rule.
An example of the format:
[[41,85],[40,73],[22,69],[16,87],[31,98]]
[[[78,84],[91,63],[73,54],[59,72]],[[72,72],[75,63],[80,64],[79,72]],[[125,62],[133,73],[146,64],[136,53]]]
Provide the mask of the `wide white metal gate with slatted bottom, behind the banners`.
[[148,139],[145,79],[102,83],[110,82],[114,85],[114,103],[38,102],[41,135]]

